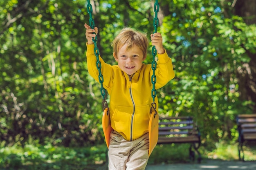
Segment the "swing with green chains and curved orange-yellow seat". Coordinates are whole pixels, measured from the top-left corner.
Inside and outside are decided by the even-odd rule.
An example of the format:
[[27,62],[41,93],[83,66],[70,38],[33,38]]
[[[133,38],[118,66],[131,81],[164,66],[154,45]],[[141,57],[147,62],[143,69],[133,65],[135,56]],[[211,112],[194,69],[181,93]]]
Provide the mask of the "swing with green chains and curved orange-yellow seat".
[[[90,0],[87,0],[87,11],[88,14],[90,15],[89,19],[89,25],[92,29],[94,29],[94,20],[92,18],[92,5],[90,4]],[[158,0],[155,0],[155,5],[154,5],[154,12],[155,12],[155,18],[153,21],[153,26],[154,26],[154,33],[157,32],[157,26],[158,26],[158,18],[157,18],[157,13],[159,12],[159,3]],[[95,34],[95,33],[94,33]],[[106,101],[106,95],[105,95],[105,89],[103,88],[103,75],[101,74],[101,62],[99,61],[99,49],[97,47],[97,36],[92,39],[94,42],[94,54],[97,59],[97,70],[99,71],[99,82],[101,84],[101,96],[103,98],[103,116],[102,116],[102,128],[103,128],[103,133],[105,136],[106,144],[107,147],[109,147],[109,139],[110,139],[110,133],[113,130],[110,124],[110,114],[109,114],[109,108],[108,108],[108,103]],[[157,106],[155,103],[155,97],[156,97],[156,89],[155,89],[155,83],[156,83],[156,76],[155,76],[155,70],[157,68],[157,62],[155,61],[155,56],[157,55],[157,50],[155,49],[155,46],[152,47],[152,55],[153,55],[153,60],[151,63],[151,67],[153,70],[153,74],[151,77],[151,82],[152,82],[152,91],[151,95],[153,98],[153,102],[151,104],[150,108],[150,120],[149,120],[149,125],[148,125],[148,134],[149,134],[149,151],[148,155],[150,155],[157,145],[158,141],[158,119],[159,116],[157,114]]]

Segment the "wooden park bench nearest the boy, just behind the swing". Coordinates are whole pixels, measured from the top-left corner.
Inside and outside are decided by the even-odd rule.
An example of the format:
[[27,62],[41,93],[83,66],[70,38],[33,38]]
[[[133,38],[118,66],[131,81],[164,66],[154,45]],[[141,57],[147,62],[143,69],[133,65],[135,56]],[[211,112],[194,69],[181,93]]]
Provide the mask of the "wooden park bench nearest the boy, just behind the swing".
[[201,144],[200,131],[194,126],[192,117],[159,117],[157,144],[172,143],[191,143],[189,158],[194,161],[196,152],[198,154],[198,163],[201,162],[202,157],[198,151]]

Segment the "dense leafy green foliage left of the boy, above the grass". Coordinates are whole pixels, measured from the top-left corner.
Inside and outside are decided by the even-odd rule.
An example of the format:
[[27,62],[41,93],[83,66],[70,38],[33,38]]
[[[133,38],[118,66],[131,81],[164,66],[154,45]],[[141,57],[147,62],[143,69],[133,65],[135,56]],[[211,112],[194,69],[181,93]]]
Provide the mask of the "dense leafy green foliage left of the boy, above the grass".
[[0,34],[1,140],[102,143],[100,93],[85,68],[84,2],[8,2],[3,22],[26,17]]

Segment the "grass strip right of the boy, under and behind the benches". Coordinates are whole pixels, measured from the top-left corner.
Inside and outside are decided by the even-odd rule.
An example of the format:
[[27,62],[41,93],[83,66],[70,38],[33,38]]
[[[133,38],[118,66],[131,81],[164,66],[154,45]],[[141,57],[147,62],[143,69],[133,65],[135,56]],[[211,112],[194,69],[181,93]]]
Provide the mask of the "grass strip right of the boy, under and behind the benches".
[[[168,164],[168,163],[188,163],[190,144],[164,144],[157,145],[150,155],[148,164]],[[216,142],[213,150],[200,146],[199,151],[202,155],[202,162],[207,159],[221,159],[225,161],[238,160],[238,144],[235,142],[220,141]],[[243,147],[245,150],[245,160],[256,159],[255,142]],[[198,155],[195,154],[195,161]]]

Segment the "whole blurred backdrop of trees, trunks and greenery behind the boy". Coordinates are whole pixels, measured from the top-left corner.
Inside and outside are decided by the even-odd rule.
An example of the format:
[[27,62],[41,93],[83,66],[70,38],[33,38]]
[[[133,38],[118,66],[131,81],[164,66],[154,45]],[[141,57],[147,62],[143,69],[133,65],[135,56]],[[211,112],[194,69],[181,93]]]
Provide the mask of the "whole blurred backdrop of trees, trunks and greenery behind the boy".
[[[90,3],[109,64],[116,64],[111,42],[124,26],[148,38],[154,31],[153,0]],[[0,168],[106,162],[100,85],[86,66],[87,4],[0,1]],[[159,0],[158,18],[176,74],[157,91],[159,115],[193,116],[204,157],[237,159],[236,115],[256,113],[256,0]],[[175,149],[182,154],[184,145]],[[173,160],[184,161],[184,152]],[[157,163],[154,155],[150,162]]]

